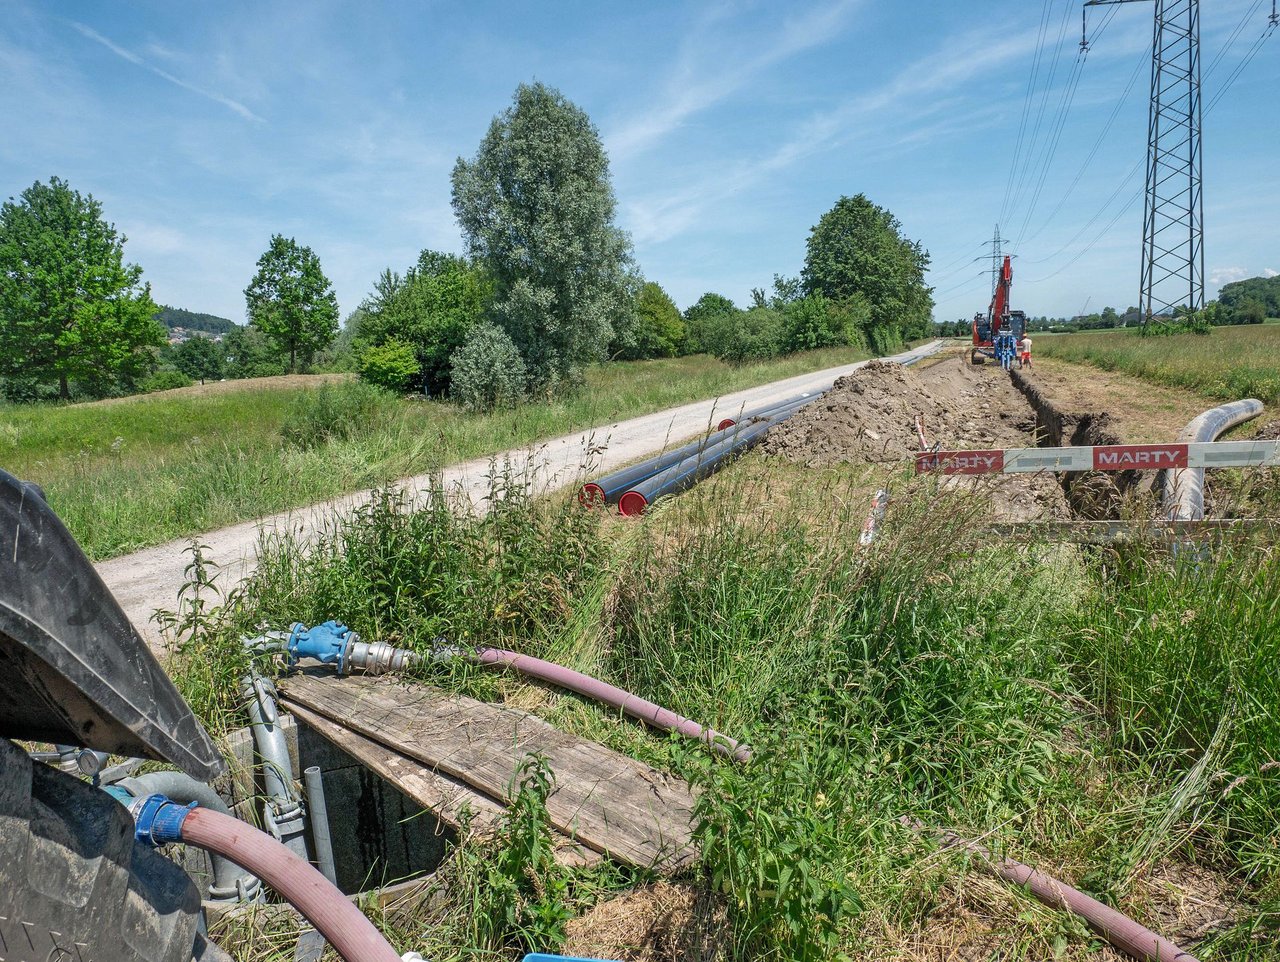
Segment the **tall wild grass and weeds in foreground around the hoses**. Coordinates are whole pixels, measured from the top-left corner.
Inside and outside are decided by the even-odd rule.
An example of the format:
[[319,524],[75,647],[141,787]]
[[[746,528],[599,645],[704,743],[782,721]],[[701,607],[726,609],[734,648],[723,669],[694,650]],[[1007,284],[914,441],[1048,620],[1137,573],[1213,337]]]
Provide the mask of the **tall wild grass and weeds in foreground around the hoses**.
[[[264,545],[177,677],[206,719],[236,724],[239,633],[338,618],[422,650],[443,633],[548,658],[746,739],[740,766],[508,675],[425,669],[699,787],[703,863],[684,884],[719,906],[718,958],[1093,957],[1078,920],[940,851],[910,816],[1076,884],[1202,962],[1280,959],[1280,551],[1174,564],[1160,545],[1006,545],[983,532],[980,500],[905,476],[864,549],[883,471],[751,457],[641,522],[570,499],[517,496],[484,518],[375,499],[310,548]],[[536,823],[536,805],[520,817]],[[566,919],[644,881],[552,884],[511,865],[509,842],[465,842],[429,908],[381,920],[398,950],[548,950]]]

